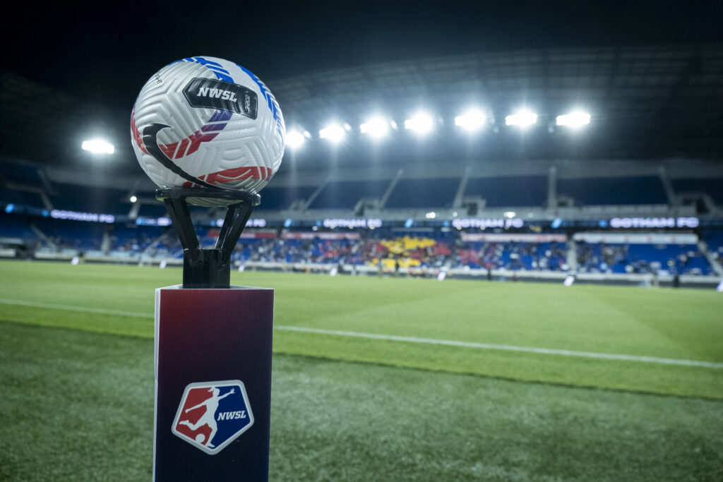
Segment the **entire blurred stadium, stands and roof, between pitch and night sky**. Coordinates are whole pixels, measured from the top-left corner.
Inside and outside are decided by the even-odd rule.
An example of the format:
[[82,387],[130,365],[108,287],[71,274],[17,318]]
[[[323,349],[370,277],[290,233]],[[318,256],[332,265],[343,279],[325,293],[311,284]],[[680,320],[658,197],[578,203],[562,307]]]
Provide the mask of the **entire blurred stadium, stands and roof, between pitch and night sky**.
[[[713,283],[723,276],[723,168],[717,162],[723,145],[719,127],[711,127],[719,126],[712,114],[719,109],[711,106],[721,106],[723,97],[711,100],[711,92],[723,64],[711,59],[721,54],[714,46],[581,48],[553,56],[520,51],[331,69],[322,75],[323,106],[309,97],[321,88],[320,77],[278,79],[273,91],[293,127],[308,131],[307,140],[301,150],[288,146],[281,169],[260,193],[252,216],[260,223],[244,232],[234,259],[264,269],[346,264],[376,273],[380,265],[395,270],[399,264],[402,272],[490,270],[535,279],[578,273],[639,280],[657,271]],[[696,60],[707,74],[688,82],[693,74],[686,66],[694,59],[707,59]],[[4,81],[13,92],[38,98],[49,92],[16,74],[6,73]],[[570,106],[570,85],[582,86],[575,96],[605,99],[604,112],[592,113],[582,132],[555,125],[555,116]],[[544,109],[523,135],[505,119],[521,88]],[[404,116],[432,91],[437,98],[427,107],[435,129],[419,136],[404,128]],[[487,121],[479,132],[463,133],[456,111],[481,91],[489,100]],[[393,121],[390,139],[369,142],[357,129],[364,120],[359,116],[380,92],[390,96],[384,112]],[[24,242],[22,257],[43,250],[45,259],[58,251],[67,259],[82,249],[98,261],[178,262],[174,228],[166,225],[165,207],[153,200],[155,185],[132,160],[128,143],[117,145],[114,160],[103,165],[67,145],[77,131],[69,119],[107,112],[62,92],[53,95],[58,110],[48,107],[42,115],[21,100],[7,103],[17,135],[0,144],[0,237]],[[339,121],[348,125],[344,141],[330,151],[317,129],[334,106],[343,106]],[[33,129],[14,124],[57,135],[40,142],[28,134]],[[127,126],[117,129],[117,139],[127,138]],[[82,186],[74,184],[79,173]],[[213,244],[223,212],[190,210],[202,243]],[[693,238],[685,244],[573,241],[593,230]],[[466,241],[474,233],[562,238]]]

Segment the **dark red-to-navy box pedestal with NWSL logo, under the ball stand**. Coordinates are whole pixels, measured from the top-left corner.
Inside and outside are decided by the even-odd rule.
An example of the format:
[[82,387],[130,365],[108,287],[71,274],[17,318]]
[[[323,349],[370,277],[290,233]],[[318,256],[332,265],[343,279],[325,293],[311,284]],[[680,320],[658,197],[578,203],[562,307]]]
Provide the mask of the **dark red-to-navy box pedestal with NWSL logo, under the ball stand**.
[[273,290],[155,291],[155,481],[268,481]]

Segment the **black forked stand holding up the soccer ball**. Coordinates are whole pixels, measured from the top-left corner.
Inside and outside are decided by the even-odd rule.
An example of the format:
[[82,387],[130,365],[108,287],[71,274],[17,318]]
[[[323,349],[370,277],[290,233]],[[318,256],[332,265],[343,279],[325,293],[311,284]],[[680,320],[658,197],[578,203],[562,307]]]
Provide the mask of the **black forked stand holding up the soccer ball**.
[[[199,189],[172,187],[158,189],[155,197],[163,201],[168,217],[176,227],[183,246],[183,287],[230,288],[231,252],[239,241],[241,231],[261,197],[254,192],[229,191],[227,189]],[[212,198],[228,201],[226,218],[215,248],[202,249],[188,209],[187,198]]]

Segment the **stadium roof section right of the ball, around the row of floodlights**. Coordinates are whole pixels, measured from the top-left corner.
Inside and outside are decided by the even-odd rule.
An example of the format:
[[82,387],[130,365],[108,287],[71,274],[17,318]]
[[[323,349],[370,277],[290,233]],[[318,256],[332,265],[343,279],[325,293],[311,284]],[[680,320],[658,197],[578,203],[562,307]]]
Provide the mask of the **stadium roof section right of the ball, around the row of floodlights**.
[[[723,46],[540,49],[443,56],[334,69],[270,82],[287,126],[315,134],[329,119],[354,129],[379,111],[400,124],[424,108],[443,124],[437,155],[467,143],[453,119],[478,106],[494,124],[475,157],[719,157],[723,152]],[[505,127],[520,106],[539,114],[521,138]],[[570,137],[555,117],[591,112],[584,135]],[[400,133],[398,138],[403,138]],[[567,134],[567,135],[566,135]],[[393,155],[401,150],[389,149]],[[321,151],[323,152],[323,151]],[[316,150],[313,155],[323,155]]]

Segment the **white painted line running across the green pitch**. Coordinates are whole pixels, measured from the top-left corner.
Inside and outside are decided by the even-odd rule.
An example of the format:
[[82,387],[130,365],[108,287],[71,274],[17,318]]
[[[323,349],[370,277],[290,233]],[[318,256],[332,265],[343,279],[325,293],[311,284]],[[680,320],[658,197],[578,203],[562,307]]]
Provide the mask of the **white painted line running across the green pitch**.
[[[103,308],[90,308],[87,306],[70,306],[64,304],[39,303],[35,301],[9,300],[5,298],[0,298],[0,304],[32,306],[34,308],[62,309],[67,311],[84,311],[86,313],[115,314],[124,317],[153,318],[153,314],[140,311],[121,311]],[[557,348],[535,348],[528,346],[495,345],[492,343],[476,343],[455,340],[436,340],[434,338],[405,337],[398,335],[380,335],[377,333],[323,330],[321,328],[292,327],[283,324],[274,325],[274,330],[316,333],[317,335],[368,338],[372,340],[387,340],[405,343],[424,343],[427,345],[461,346],[463,348],[476,348],[480,350],[517,351],[523,353],[538,353],[541,355],[578,356],[582,358],[602,358],[604,360],[638,361],[645,363],[659,363],[663,365],[702,366],[709,369],[723,369],[723,363],[717,363],[714,361],[681,360],[678,358],[657,358],[655,356],[618,355],[615,353],[595,353],[590,351],[560,350]]]

